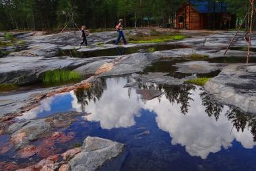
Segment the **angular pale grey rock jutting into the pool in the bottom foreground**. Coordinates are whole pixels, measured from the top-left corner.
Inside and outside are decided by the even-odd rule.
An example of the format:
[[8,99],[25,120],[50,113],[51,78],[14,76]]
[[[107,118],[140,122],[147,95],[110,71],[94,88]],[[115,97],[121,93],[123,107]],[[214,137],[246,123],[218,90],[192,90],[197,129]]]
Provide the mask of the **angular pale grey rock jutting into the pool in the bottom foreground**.
[[122,143],[99,137],[87,137],[84,140],[82,151],[69,161],[70,169],[75,171],[97,170],[107,160],[117,157],[123,149]]

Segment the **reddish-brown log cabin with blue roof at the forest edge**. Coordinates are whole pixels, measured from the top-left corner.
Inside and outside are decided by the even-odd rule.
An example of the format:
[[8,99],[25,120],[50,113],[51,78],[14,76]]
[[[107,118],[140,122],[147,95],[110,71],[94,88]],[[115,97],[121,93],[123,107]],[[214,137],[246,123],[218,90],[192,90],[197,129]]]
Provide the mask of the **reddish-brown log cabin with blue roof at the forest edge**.
[[189,0],[174,18],[174,28],[187,30],[235,28],[236,16],[227,11],[227,4],[211,0]]

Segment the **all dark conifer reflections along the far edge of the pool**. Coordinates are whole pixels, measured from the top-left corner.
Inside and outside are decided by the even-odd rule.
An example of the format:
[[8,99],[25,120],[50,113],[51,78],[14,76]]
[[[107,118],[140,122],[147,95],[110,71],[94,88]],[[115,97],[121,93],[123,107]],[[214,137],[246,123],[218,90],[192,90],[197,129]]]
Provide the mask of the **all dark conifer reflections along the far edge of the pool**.
[[[116,80],[118,81],[118,80]],[[93,100],[100,100],[104,90],[106,90],[106,79],[98,79],[90,88],[84,90],[76,90],[75,96],[77,97],[77,103],[81,105],[82,111],[85,111],[86,106]],[[197,90],[196,86],[191,84],[183,84],[182,86],[162,86],[156,83],[139,83],[138,87],[141,90],[159,90],[162,92],[170,104],[181,104],[181,113],[187,114],[189,112],[189,102],[193,100],[193,91]],[[131,96],[132,88],[128,88],[128,96]],[[202,90],[202,89],[201,89]],[[224,110],[224,105],[216,102],[210,96],[207,96],[205,92],[200,94],[201,104],[205,107],[205,113],[209,116],[219,120],[220,114]],[[158,101],[161,102],[162,96],[158,97]],[[142,99],[146,103],[145,99]],[[245,129],[249,129],[253,134],[253,139],[256,141],[256,117],[250,114],[244,114],[241,110],[234,107],[229,107],[226,110],[225,116],[233,125],[233,129],[236,131],[244,132]],[[232,131],[232,130],[231,130]]]

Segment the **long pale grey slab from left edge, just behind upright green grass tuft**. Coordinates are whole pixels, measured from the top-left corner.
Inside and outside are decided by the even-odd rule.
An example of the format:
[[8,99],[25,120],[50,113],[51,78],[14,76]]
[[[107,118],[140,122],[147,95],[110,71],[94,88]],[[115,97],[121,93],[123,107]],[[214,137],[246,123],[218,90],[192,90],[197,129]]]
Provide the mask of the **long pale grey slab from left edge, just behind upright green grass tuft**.
[[24,85],[38,81],[41,73],[54,69],[75,69],[96,59],[70,57],[6,57],[0,59],[0,83]]

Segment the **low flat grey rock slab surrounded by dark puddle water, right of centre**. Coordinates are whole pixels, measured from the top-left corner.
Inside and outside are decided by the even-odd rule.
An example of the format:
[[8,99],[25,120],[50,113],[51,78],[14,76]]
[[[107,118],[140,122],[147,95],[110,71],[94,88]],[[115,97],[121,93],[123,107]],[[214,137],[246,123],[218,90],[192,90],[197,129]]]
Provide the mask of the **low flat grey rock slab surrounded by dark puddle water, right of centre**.
[[190,61],[174,65],[179,73],[210,73],[221,70],[225,65],[209,63],[207,61]]

